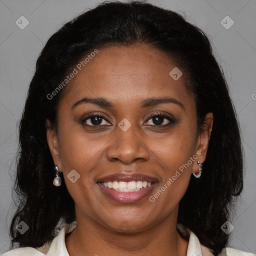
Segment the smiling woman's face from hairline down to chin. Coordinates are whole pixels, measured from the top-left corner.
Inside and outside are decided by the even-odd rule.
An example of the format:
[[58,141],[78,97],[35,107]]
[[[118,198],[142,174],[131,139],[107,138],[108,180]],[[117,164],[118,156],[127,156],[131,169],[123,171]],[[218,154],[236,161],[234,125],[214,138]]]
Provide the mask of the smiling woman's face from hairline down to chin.
[[[57,136],[47,130],[76,216],[130,231],[176,216],[191,173],[198,170],[197,160],[204,161],[209,138],[208,131],[197,134],[195,102],[184,73],[179,77],[174,69],[169,74],[175,67],[184,71],[143,44],[99,48],[84,67],[78,66],[59,102]],[[100,117],[90,117],[92,113]],[[156,182],[135,192],[99,183],[117,173],[144,174]],[[128,179],[141,187],[147,177]],[[109,180],[117,181],[106,183],[110,187],[126,185],[118,183],[124,181],[120,176]]]

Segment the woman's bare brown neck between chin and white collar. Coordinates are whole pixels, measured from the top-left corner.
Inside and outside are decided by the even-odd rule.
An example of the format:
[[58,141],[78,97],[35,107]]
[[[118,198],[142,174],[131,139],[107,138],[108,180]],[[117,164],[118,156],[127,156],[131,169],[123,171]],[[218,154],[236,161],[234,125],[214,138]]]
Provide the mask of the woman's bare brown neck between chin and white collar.
[[76,211],[76,228],[65,238],[69,256],[185,256],[188,239],[183,238],[176,229],[177,209],[174,216],[140,232],[117,232],[95,222],[88,216],[84,218]]

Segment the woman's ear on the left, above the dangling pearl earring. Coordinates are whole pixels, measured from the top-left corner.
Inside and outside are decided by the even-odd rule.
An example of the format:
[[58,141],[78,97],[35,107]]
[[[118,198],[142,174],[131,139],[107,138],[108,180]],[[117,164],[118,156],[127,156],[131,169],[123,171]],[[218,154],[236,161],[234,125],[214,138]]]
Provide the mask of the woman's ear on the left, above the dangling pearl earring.
[[54,164],[55,162],[57,163],[58,172],[62,172],[62,166],[61,166],[61,161],[59,156],[59,143],[58,143],[57,132],[55,128],[52,127],[52,124],[49,119],[46,119],[45,126],[46,126],[47,143],[50,149],[51,156],[53,158],[53,162]]

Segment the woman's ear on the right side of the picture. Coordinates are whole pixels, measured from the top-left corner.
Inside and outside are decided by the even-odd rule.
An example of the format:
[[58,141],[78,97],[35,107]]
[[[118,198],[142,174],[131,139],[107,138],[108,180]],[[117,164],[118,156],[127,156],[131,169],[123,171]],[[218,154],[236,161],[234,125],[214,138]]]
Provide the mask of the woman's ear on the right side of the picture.
[[193,162],[192,171],[196,174],[198,172],[198,168],[200,167],[197,161],[201,164],[204,162],[206,158],[206,153],[208,149],[210,134],[212,130],[213,124],[213,114],[207,113],[204,118],[204,122],[202,124],[201,132],[197,137],[196,141],[196,155],[198,155],[196,161]]

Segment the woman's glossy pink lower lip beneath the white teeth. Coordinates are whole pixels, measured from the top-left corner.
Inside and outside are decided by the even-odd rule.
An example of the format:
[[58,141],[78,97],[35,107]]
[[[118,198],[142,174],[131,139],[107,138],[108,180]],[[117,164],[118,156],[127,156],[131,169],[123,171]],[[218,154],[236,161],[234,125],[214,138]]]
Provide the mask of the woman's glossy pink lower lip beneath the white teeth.
[[132,202],[137,202],[142,198],[146,197],[151,192],[151,190],[156,186],[156,183],[157,182],[153,183],[148,187],[141,188],[140,190],[134,191],[134,192],[120,192],[112,188],[105,187],[101,183],[97,183],[97,184],[100,187],[100,189],[103,191],[103,193],[106,194],[111,199],[113,199],[114,201],[119,203],[132,203]]

